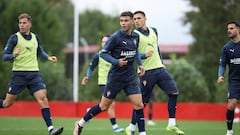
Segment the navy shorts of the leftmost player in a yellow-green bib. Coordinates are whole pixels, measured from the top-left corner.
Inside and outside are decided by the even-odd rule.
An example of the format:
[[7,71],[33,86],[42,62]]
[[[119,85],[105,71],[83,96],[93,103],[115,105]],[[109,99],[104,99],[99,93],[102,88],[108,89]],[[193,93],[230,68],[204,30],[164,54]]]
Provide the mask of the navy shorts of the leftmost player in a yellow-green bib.
[[13,71],[11,80],[8,84],[8,93],[17,95],[24,88],[28,88],[29,93],[33,95],[34,92],[40,89],[46,89],[46,85],[38,71]]

